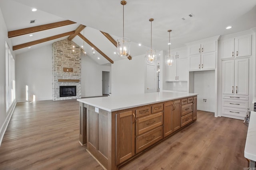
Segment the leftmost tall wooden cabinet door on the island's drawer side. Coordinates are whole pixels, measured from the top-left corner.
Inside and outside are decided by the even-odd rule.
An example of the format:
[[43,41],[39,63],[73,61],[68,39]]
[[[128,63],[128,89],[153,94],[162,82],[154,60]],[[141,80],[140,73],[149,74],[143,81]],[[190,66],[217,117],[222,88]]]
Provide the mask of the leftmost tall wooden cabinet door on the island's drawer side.
[[135,115],[132,111],[116,114],[116,164],[134,155]]

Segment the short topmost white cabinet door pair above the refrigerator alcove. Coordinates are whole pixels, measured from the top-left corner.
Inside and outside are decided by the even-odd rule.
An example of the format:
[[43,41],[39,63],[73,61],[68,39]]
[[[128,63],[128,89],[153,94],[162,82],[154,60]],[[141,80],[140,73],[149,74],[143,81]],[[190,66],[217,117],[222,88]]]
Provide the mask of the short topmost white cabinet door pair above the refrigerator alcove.
[[209,41],[188,47],[188,54],[195,55],[216,51],[216,41]]

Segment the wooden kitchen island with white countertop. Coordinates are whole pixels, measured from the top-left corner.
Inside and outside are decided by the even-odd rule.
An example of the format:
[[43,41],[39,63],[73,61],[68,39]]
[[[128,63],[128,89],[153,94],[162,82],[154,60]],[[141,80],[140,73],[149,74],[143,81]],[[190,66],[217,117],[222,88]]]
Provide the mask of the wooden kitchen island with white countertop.
[[107,170],[196,121],[197,94],[154,92],[78,99],[81,145]]

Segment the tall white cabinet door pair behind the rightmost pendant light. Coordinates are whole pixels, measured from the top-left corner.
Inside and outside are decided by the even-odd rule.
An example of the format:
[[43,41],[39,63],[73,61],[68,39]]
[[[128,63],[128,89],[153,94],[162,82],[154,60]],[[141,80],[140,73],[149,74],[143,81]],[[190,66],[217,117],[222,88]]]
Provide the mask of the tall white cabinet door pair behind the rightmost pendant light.
[[172,66],[166,66],[166,81],[187,81],[188,59],[174,60]]

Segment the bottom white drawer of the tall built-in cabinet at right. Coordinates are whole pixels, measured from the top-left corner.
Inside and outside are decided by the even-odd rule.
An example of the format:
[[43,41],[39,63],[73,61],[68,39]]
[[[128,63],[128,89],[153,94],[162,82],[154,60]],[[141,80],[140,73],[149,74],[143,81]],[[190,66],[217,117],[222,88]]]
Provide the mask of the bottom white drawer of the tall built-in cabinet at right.
[[[224,117],[230,117],[234,116],[231,118],[238,118],[238,119],[244,119],[246,115],[247,109],[239,109],[239,108],[234,108],[234,107],[222,107],[221,109],[221,114]],[[230,116],[226,116],[230,115]]]

